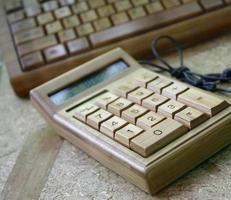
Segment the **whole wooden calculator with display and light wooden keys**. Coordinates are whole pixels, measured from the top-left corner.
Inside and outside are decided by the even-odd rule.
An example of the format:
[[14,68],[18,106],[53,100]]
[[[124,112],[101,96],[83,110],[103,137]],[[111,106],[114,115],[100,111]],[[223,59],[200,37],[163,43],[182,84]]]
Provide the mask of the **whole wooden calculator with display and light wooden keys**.
[[231,107],[120,48],[30,92],[57,133],[154,194],[228,145]]

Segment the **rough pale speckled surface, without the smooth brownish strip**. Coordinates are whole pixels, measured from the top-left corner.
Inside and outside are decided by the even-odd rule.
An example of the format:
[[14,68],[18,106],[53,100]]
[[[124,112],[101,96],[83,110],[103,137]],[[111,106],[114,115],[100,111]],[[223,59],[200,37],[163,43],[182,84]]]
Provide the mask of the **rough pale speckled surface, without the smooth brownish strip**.
[[[169,56],[177,66],[176,55]],[[194,71],[221,71],[231,67],[231,35],[185,51],[185,64]],[[28,134],[46,126],[28,100],[17,98],[5,68],[0,78],[0,191]],[[64,142],[40,200],[149,200],[231,199],[231,147],[181,177],[155,197]],[[0,197],[1,199],[1,197]]]

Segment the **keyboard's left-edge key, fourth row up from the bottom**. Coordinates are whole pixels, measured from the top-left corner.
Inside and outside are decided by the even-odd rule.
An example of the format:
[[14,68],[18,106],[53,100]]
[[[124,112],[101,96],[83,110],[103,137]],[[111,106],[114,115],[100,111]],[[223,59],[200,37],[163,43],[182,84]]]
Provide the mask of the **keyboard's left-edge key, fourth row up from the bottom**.
[[11,25],[11,30],[16,33],[25,29],[30,29],[36,26],[34,18],[28,18],[21,21],[17,21]]

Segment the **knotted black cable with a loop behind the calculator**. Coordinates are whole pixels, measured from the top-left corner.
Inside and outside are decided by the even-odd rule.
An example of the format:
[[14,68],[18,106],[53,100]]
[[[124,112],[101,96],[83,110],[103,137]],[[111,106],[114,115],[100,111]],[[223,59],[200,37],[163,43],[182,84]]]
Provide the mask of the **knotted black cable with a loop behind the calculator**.
[[[180,66],[175,68],[171,66],[158,52],[157,46],[161,40],[169,40],[173,43],[173,48],[177,51]],[[140,64],[150,65],[157,70],[155,72],[168,72],[172,77],[175,77],[183,82],[186,82],[195,87],[205,89],[208,91],[222,91],[230,92],[231,88],[222,87],[222,83],[231,82],[231,68],[226,68],[222,73],[211,73],[201,75],[192,72],[188,67],[184,65],[183,47],[181,44],[173,37],[163,35],[153,40],[152,42],[152,53],[154,58],[160,61],[163,65],[158,65],[153,63],[151,60],[140,60]]]

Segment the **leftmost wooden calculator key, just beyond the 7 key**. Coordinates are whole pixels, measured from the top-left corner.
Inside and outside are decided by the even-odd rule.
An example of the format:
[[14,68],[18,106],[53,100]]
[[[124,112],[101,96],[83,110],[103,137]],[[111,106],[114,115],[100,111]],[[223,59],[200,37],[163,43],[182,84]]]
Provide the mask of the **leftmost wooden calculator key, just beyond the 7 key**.
[[87,116],[99,109],[98,106],[92,103],[85,103],[74,110],[74,118],[79,119],[83,122],[86,121]]

